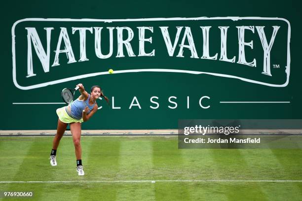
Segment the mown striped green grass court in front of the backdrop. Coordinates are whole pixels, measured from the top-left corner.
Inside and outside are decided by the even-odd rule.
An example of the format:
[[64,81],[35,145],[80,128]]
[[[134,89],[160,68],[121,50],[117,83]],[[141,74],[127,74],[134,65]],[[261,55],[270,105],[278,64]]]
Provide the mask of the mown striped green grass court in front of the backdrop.
[[52,139],[0,137],[1,192],[33,191],[28,200],[38,201],[302,199],[301,149],[178,149],[177,136],[82,136],[78,176],[72,137],[62,138],[56,167]]

